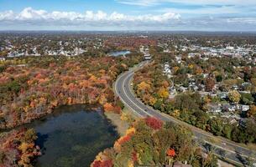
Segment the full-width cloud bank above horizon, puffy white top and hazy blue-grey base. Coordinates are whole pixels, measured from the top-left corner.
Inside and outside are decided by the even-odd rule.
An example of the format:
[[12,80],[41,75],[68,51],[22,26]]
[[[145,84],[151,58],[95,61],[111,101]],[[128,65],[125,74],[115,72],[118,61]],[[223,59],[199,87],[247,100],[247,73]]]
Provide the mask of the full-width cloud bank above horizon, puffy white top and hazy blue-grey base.
[[[199,2],[200,0],[196,1]],[[222,7],[220,10],[223,9],[227,8]],[[220,12],[220,10],[217,12]],[[196,13],[196,11],[194,12]],[[183,10],[182,13],[188,13],[188,11]],[[201,10],[201,13],[207,13],[207,11]],[[216,11],[211,13],[216,13]],[[140,15],[127,15],[117,12],[104,13],[102,11],[86,11],[85,13],[48,12],[35,10],[34,8],[24,8],[20,13],[14,13],[13,11],[0,12],[0,30],[255,31],[255,27],[256,17],[253,16],[238,17],[238,15],[223,14],[221,16],[200,15],[185,18],[181,17],[179,10],[175,11],[173,8],[165,8],[162,13]]]

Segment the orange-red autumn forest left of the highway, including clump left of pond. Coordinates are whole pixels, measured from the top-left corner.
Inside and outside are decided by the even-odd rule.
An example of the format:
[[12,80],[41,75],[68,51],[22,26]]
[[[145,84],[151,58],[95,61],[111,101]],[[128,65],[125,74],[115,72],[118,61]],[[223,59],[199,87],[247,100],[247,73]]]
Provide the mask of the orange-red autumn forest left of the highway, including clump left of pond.
[[118,74],[141,61],[141,54],[123,57],[14,58],[1,65],[0,166],[32,166],[39,156],[33,129],[13,129],[50,114],[60,105],[96,104],[120,113],[122,102],[112,83]]

